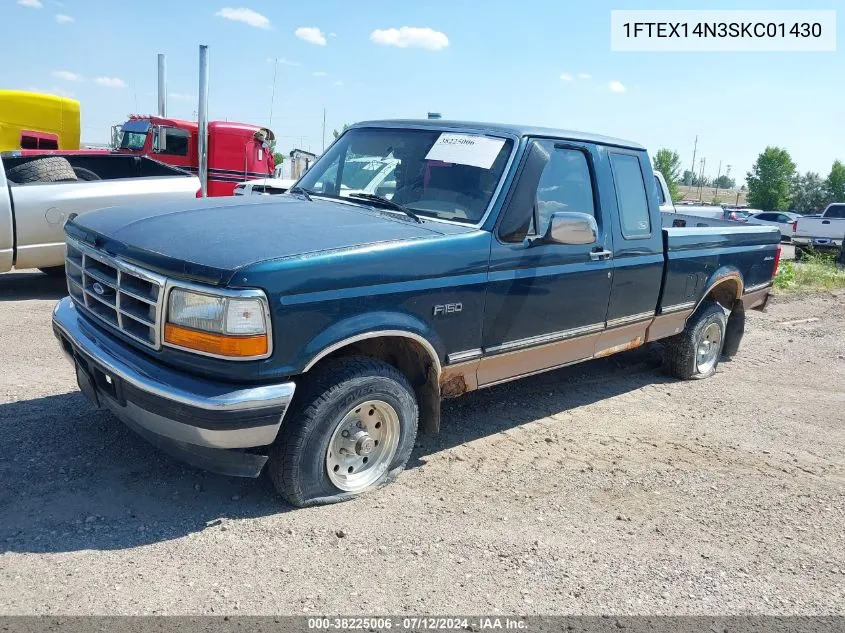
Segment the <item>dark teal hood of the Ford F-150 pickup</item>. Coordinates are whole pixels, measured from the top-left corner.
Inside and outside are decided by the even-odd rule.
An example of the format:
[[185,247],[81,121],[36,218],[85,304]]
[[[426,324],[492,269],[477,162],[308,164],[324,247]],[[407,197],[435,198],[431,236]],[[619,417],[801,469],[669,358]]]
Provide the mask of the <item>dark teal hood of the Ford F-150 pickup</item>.
[[417,224],[358,204],[287,195],[102,209],[74,218],[65,230],[163,274],[216,284],[273,259],[441,234],[436,222]]

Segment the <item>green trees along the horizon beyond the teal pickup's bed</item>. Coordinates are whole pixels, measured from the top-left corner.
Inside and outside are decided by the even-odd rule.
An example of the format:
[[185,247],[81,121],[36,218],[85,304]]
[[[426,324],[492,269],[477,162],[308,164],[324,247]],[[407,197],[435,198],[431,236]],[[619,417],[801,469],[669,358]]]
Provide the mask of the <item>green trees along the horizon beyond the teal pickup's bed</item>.
[[[653,158],[654,169],[663,174],[674,201],[683,196],[678,185],[732,189],[736,182],[726,175],[715,180],[685,170],[681,173],[678,152],[661,148]],[[831,202],[845,202],[845,164],[833,162],[827,177],[816,172],[798,172],[789,152],[781,147],[767,147],[746,175],[748,205],[763,211],[800,211],[820,213]]]

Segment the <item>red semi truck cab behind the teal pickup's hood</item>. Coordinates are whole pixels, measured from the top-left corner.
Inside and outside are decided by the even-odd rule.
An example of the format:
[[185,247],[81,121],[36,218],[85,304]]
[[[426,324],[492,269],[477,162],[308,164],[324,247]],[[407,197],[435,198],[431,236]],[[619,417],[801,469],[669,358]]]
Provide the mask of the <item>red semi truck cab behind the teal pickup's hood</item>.
[[[163,163],[199,172],[199,125],[158,116],[131,116],[123,124],[117,152],[150,156]],[[208,124],[208,195],[231,196],[244,180],[273,176],[274,138],[267,128],[230,121]]]

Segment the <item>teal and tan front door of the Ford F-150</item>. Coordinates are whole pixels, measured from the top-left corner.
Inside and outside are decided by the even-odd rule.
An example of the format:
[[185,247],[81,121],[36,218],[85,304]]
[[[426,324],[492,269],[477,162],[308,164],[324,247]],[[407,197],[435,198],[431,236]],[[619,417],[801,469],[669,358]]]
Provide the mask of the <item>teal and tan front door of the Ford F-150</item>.
[[[533,140],[526,155],[491,248],[479,386],[590,358],[605,328],[613,261],[595,178],[601,157],[594,146],[550,139]],[[531,160],[545,162],[539,181]],[[542,236],[557,212],[591,215],[596,241],[523,242]],[[503,234],[526,214],[527,231]]]

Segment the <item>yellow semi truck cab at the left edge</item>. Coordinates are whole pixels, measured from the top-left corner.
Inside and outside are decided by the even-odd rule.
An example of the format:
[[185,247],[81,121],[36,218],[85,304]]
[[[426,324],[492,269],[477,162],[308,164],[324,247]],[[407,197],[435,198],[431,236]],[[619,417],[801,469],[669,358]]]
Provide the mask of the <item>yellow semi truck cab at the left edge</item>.
[[0,90],[0,152],[79,149],[79,101]]

